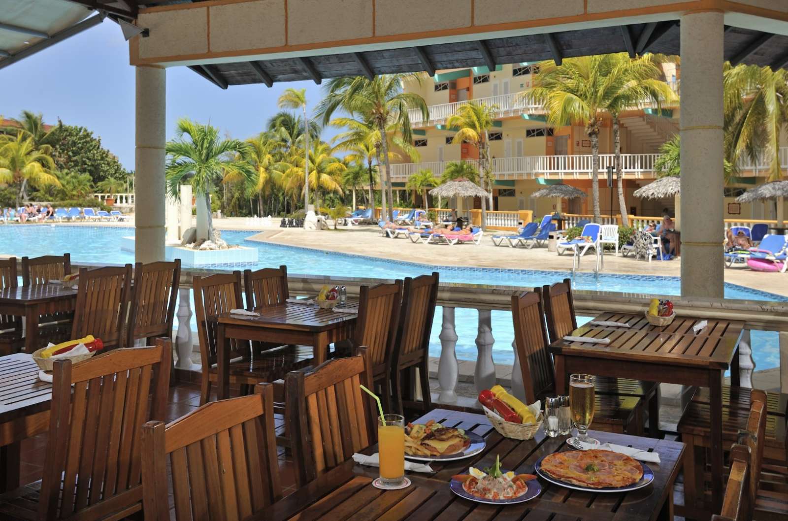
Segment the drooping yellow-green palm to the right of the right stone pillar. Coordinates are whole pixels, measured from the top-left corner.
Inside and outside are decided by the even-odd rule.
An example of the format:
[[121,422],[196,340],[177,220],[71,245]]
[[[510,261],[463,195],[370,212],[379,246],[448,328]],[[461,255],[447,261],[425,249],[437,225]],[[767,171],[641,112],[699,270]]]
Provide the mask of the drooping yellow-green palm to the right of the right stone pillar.
[[788,124],[788,71],[726,64],[723,69],[725,158],[768,158],[768,180],[782,176],[780,131]]

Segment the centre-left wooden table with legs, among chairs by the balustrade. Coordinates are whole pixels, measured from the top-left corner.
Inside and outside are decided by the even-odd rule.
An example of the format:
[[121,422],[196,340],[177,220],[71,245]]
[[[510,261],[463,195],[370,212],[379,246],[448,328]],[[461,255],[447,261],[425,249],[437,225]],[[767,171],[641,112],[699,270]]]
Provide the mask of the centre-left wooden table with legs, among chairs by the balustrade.
[[325,362],[329,344],[348,340],[358,316],[359,300],[348,299],[344,308],[356,313],[322,309],[306,303],[281,303],[258,307],[257,316],[218,314],[217,321],[217,398],[229,398],[231,340],[277,344],[310,345],[314,365]]

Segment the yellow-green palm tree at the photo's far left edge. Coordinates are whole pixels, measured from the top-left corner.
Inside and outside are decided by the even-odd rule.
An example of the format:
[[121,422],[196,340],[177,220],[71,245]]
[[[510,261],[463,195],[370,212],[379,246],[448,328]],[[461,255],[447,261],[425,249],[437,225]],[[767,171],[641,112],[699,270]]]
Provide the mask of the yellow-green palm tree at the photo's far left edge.
[[17,207],[27,199],[28,184],[34,188],[60,186],[53,173],[54,160],[47,150],[51,149],[46,145],[43,150],[36,148],[32,136],[25,137],[24,132],[0,146],[0,183],[19,184]]

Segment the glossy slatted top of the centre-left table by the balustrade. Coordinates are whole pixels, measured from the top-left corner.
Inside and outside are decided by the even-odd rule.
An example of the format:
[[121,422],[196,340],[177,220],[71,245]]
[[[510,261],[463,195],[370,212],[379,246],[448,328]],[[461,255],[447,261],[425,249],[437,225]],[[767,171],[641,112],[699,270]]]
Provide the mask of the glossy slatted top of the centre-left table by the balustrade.
[[[344,307],[358,311],[359,300],[348,299],[348,304]],[[216,318],[220,324],[235,326],[287,327],[288,329],[318,331],[331,329],[337,324],[355,320],[358,317],[358,314],[354,313],[341,313],[314,305],[289,302],[276,306],[258,307],[255,311],[260,315],[255,317],[223,313],[217,315]]]

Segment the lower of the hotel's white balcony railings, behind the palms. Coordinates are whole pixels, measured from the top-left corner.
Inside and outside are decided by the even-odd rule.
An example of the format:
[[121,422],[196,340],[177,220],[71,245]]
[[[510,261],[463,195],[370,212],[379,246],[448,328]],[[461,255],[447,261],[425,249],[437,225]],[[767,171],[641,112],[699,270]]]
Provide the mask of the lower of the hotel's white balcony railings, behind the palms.
[[[621,168],[627,179],[654,177],[654,163],[660,154],[621,154]],[[788,173],[788,147],[779,150],[780,168]],[[478,161],[467,161],[478,168]],[[421,169],[429,169],[434,175],[443,175],[448,162],[400,163],[392,165],[392,179],[407,180]],[[599,173],[604,175],[608,166],[615,166],[615,154],[599,154]],[[753,177],[768,170],[768,161],[760,159],[739,162],[739,175]],[[520,158],[494,158],[492,169],[497,179],[534,179],[536,177],[557,179],[586,179],[591,177],[592,156],[582,155],[532,155]]]

